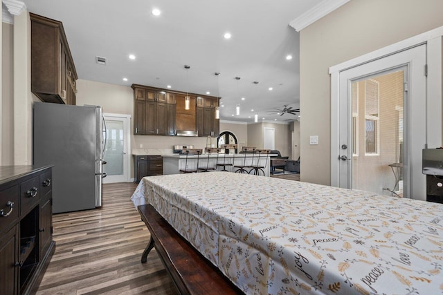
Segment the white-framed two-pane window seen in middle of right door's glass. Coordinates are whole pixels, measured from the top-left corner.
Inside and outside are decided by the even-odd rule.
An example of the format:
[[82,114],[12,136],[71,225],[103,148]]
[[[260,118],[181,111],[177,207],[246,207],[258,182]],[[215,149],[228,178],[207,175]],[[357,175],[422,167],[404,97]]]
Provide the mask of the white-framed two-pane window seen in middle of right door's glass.
[[379,82],[365,80],[365,155],[379,155]]

